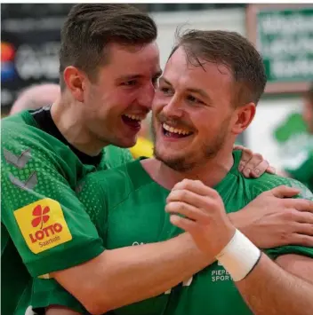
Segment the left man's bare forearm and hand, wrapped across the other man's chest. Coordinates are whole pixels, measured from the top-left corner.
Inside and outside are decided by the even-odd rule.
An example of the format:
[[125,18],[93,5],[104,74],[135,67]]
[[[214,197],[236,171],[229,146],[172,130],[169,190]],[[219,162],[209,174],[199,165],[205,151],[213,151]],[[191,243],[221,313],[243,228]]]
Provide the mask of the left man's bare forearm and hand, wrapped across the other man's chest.
[[[241,211],[231,214],[232,222],[237,228],[242,227],[260,248],[304,241],[313,246],[312,237],[308,235],[301,239],[293,230],[301,228],[301,224],[300,227],[293,224],[294,216],[285,217],[285,213],[299,210],[297,219],[302,222],[310,219],[313,223],[313,214],[303,211],[313,211],[313,203],[283,199],[296,193],[299,190],[285,186],[262,193],[243,210],[243,214]],[[251,225],[249,228],[246,221]],[[273,224],[276,229],[272,228]],[[293,229],[288,230],[288,237],[283,238],[289,225]],[[214,260],[213,256],[202,254],[189,234],[184,233],[164,242],[107,250],[86,264],[53,275],[89,311],[101,313],[160,295]]]

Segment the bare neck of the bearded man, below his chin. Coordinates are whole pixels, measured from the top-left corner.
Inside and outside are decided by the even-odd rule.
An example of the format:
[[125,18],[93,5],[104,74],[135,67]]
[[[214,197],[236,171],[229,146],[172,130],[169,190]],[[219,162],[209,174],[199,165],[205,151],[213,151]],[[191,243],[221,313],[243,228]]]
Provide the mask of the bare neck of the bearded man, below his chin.
[[164,162],[156,159],[142,160],[141,163],[142,167],[157,184],[169,190],[185,178],[201,180],[205,185],[214,187],[226,177],[234,164],[232,148],[228,151],[229,153],[224,150],[205,164],[184,172],[171,169]]

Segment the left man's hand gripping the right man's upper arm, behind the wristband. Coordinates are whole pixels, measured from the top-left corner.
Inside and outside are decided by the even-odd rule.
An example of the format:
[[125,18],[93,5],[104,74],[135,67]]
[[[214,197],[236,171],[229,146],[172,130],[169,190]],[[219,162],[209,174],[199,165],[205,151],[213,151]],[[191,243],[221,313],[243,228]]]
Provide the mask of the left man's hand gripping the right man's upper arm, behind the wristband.
[[229,218],[258,248],[313,247],[313,201],[291,198],[298,193],[297,188],[278,186]]

